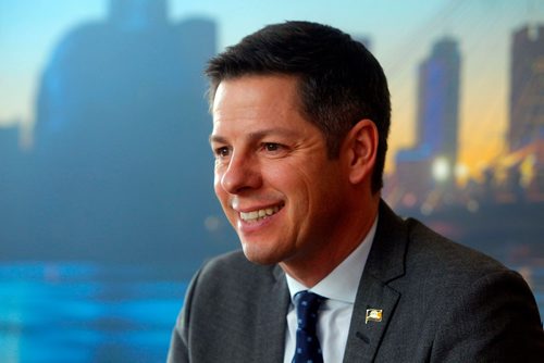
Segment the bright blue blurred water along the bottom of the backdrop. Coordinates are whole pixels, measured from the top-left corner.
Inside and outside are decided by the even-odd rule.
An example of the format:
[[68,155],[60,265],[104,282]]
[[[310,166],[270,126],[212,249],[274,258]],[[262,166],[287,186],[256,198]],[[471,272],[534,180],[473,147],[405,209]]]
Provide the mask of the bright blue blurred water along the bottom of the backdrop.
[[[519,266],[544,312],[544,267]],[[187,278],[168,266],[0,264],[0,362],[164,362]]]

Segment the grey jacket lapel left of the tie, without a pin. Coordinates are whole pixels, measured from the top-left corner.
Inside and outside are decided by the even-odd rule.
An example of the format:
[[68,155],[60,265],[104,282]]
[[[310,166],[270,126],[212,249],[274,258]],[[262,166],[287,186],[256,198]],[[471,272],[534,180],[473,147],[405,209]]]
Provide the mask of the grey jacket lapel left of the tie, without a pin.
[[261,310],[257,316],[256,328],[256,352],[257,362],[277,363],[283,362],[285,346],[285,329],[289,291],[285,275],[280,266],[273,270],[271,290],[261,293]]

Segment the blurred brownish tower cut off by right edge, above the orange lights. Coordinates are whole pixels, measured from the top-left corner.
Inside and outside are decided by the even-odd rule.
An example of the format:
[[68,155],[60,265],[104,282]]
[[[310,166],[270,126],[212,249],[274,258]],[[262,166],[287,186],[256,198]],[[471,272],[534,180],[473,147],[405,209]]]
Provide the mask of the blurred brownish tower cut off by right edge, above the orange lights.
[[510,63],[510,151],[544,139],[544,25],[514,33]]

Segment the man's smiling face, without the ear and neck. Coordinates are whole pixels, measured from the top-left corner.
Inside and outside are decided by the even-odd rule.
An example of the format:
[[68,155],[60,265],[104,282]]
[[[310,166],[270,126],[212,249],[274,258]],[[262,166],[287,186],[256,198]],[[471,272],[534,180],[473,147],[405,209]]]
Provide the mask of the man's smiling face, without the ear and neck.
[[214,189],[248,260],[312,259],[334,242],[347,182],[299,112],[296,78],[222,82],[213,102]]

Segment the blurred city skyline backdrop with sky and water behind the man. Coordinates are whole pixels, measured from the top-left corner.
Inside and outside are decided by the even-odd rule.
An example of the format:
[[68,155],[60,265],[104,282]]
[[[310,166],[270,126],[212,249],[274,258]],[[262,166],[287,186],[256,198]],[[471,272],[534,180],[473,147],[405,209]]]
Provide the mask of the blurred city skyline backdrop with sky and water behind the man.
[[542,2],[4,0],[0,361],[164,361],[191,274],[237,248],[202,68],[284,20],[374,52],[384,198],[520,271],[544,312]]

